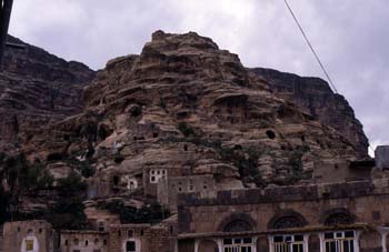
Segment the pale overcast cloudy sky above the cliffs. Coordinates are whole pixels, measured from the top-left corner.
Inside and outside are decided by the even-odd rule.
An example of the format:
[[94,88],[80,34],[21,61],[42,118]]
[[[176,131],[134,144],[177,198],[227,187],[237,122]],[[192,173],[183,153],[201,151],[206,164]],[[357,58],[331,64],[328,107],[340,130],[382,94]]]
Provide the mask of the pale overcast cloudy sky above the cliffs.
[[[289,3],[371,145],[389,144],[389,1]],[[17,0],[10,24],[26,42],[93,69],[140,53],[159,29],[210,37],[247,67],[323,77],[283,0]]]

